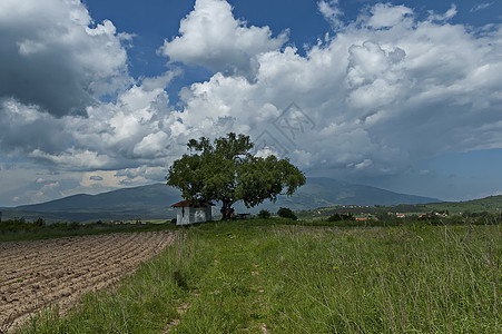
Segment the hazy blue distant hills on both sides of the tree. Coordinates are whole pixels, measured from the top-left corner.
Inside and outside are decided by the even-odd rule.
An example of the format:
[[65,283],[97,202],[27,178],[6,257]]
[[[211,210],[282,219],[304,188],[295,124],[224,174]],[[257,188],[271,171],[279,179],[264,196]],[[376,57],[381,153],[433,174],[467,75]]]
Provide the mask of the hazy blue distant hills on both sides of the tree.
[[[180,191],[165,184],[155,184],[135,188],[125,188],[99,195],[73,195],[36,205],[23,205],[3,209],[6,219],[26,217],[27,219],[43,217],[48,220],[109,220],[109,219],[155,219],[173,218],[175,212],[171,204],[181,199]],[[313,209],[335,205],[397,205],[437,203],[439,199],[404,195],[375,187],[354,185],[326,177],[307,178],[292,197],[279,196],[275,204],[269,202],[247,209],[236,204],[237,212],[256,213],[262,208],[273,212],[280,206],[294,210]],[[215,213],[218,210],[216,209]]]

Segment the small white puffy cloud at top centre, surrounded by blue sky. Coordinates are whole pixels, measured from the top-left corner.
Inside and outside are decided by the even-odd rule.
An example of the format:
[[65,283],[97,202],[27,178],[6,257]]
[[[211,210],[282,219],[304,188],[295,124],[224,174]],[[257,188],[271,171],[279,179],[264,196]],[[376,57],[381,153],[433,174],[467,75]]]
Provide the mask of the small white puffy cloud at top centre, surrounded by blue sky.
[[207,67],[227,75],[253,79],[256,56],[276,50],[287,41],[287,32],[273,38],[268,27],[247,27],[235,19],[223,0],[197,0],[194,10],[181,20],[179,36],[166,40],[160,52],[170,61]]

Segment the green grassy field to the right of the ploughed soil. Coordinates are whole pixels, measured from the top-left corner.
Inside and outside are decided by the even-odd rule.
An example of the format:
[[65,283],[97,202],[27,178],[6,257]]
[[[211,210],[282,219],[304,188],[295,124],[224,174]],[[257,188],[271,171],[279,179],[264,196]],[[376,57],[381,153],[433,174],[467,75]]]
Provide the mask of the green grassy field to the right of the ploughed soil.
[[20,333],[500,333],[500,225],[179,230],[156,259]]

